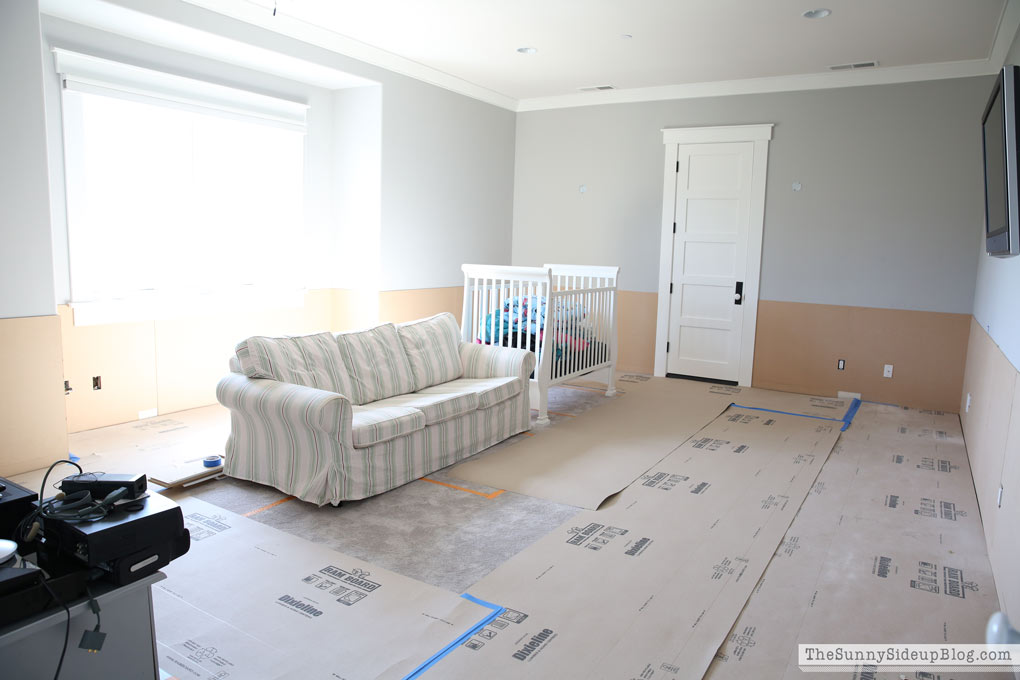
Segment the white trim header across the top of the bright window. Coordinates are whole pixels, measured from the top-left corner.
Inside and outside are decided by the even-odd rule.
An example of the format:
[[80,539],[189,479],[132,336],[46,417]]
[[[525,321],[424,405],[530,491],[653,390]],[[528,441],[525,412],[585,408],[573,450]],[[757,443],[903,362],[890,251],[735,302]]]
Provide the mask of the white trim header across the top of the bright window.
[[308,105],[53,48],[66,90],[206,109],[304,130]]

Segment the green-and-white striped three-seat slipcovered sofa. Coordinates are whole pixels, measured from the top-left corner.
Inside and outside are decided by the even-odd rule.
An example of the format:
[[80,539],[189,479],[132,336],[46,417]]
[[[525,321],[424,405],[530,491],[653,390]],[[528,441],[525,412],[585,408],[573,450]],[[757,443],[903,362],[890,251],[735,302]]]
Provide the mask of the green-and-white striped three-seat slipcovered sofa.
[[460,342],[444,313],[237,346],[216,399],[224,471],[322,506],[364,499],[530,427],[534,354]]

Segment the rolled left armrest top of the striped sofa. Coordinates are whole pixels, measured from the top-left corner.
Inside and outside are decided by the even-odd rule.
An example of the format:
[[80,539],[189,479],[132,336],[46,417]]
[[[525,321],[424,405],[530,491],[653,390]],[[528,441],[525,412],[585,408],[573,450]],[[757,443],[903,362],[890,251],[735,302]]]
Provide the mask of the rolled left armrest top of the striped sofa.
[[340,441],[351,437],[351,402],[337,393],[231,373],[216,385],[216,400],[232,411],[304,423]]

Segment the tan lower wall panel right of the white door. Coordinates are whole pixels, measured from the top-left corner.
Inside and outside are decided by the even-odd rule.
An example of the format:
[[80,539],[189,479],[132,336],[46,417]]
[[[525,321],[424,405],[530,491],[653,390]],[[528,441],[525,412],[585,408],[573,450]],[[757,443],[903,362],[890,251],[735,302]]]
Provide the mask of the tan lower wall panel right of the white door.
[[752,384],[955,412],[969,324],[967,314],[762,300]]

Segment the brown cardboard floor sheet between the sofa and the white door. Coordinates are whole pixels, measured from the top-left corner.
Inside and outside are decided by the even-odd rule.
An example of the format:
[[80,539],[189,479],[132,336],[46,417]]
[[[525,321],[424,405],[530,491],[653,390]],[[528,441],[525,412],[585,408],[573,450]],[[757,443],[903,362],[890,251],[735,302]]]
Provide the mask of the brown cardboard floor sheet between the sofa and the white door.
[[[834,420],[842,419],[850,405],[845,400],[650,378],[627,382],[625,395],[598,409],[461,463],[450,475],[595,510],[734,401]],[[634,423],[641,427],[634,428]],[[621,431],[628,436],[621,437]]]

